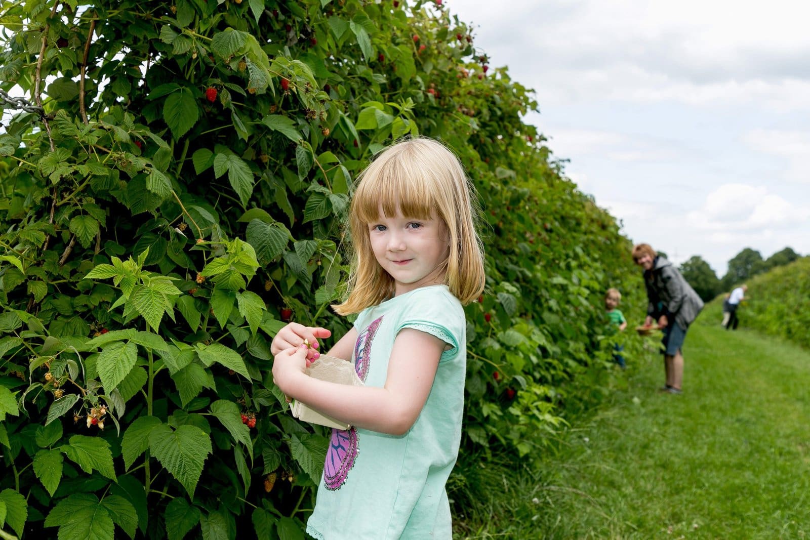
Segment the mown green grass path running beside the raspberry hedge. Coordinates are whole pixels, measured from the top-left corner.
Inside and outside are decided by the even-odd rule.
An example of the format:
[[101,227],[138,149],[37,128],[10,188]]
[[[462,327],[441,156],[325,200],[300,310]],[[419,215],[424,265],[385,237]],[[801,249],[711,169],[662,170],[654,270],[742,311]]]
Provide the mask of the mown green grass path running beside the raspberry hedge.
[[512,471],[457,538],[810,538],[810,352],[710,321],[689,330],[683,395],[657,391],[659,355],[630,359],[543,472]]

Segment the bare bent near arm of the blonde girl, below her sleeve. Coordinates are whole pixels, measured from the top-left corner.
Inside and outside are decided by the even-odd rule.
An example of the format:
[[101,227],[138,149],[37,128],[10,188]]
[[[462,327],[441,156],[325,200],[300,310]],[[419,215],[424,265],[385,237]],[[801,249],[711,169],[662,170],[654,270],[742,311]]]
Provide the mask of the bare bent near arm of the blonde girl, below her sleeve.
[[374,432],[403,435],[428,400],[445,346],[430,334],[401,330],[394,340],[382,388],[313,379],[305,375],[306,351],[301,348],[275,356],[273,377],[283,393],[326,415]]

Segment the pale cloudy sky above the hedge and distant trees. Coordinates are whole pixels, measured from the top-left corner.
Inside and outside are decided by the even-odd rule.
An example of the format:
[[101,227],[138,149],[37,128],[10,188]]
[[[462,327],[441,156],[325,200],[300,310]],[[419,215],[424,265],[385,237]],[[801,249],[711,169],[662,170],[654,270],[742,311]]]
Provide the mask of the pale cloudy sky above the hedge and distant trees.
[[[565,174],[676,263],[810,254],[810,2],[445,0]],[[490,71],[490,73],[492,73]]]

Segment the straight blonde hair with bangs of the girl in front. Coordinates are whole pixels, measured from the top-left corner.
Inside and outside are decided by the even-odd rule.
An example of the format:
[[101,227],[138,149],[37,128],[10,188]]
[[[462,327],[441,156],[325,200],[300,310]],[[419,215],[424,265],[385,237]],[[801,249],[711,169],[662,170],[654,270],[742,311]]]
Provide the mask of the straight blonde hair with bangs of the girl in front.
[[443,263],[444,283],[469,304],[484,291],[484,248],[475,227],[475,190],[462,164],[441,142],[411,138],[380,152],[363,172],[352,197],[349,232],[352,271],[348,296],[332,308],[340,315],[359,313],[394,294],[394,279],[374,257],[369,223],[385,215],[415,219],[437,217],[450,235]]

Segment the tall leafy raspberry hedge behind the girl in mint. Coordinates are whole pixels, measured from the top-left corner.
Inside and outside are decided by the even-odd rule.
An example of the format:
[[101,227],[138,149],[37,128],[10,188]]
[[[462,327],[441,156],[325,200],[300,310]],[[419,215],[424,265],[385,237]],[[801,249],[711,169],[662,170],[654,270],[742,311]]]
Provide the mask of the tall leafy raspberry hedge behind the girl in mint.
[[0,89],[42,111],[0,132],[4,536],[303,538],[326,432],[288,414],[269,341],[347,330],[352,181],[403,135],[458,152],[488,225],[461,459],[526,462],[598,397],[602,291],[641,301],[628,240],[441,2],[3,1],[0,23]]

